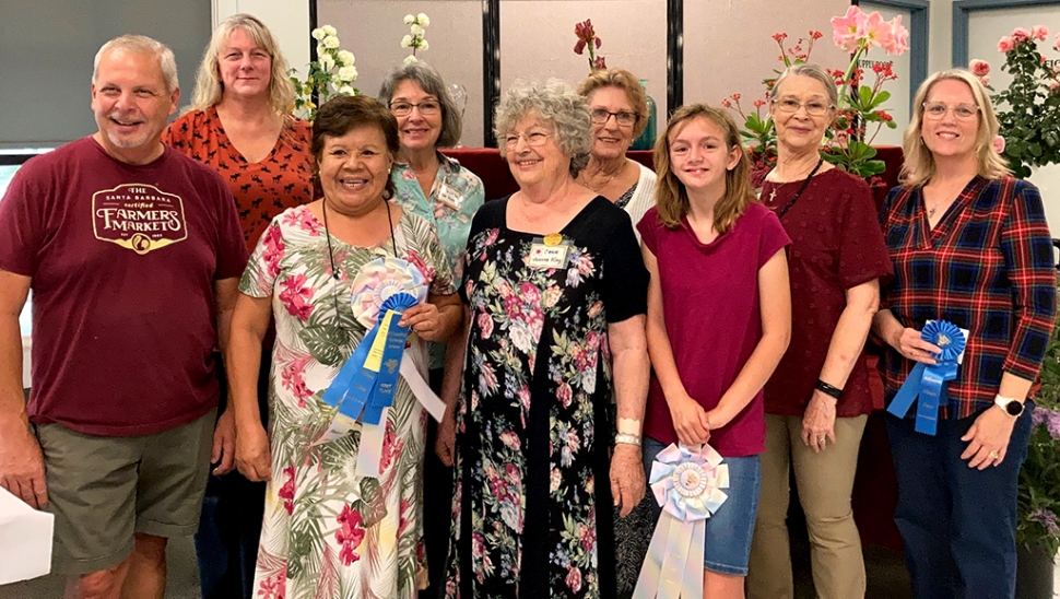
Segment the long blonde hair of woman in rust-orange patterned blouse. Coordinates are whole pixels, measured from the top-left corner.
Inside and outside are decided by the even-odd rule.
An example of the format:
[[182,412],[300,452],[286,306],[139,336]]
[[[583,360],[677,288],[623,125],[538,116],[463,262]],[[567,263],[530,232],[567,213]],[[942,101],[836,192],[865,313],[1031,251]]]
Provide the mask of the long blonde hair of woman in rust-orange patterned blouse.
[[290,120],[286,116],[294,108],[295,91],[294,84],[287,77],[290,70],[287,60],[280,51],[280,43],[269,27],[249,14],[234,14],[213,31],[210,44],[202,55],[202,62],[199,63],[199,71],[196,73],[196,86],[191,93],[191,106],[188,109],[205,110],[221,103],[224,96],[224,83],[221,81],[219,60],[223,46],[228,43],[228,37],[236,30],[247,32],[259,48],[269,52],[272,59],[268,89],[269,106],[272,107],[278,119]]

